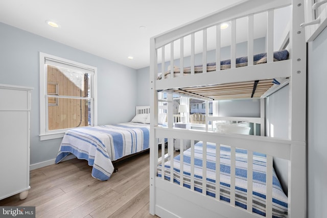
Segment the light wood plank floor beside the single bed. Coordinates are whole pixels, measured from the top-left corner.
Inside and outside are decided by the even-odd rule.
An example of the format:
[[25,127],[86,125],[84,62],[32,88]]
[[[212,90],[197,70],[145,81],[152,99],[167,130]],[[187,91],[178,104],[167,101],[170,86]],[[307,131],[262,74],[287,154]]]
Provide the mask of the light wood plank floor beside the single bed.
[[149,214],[149,152],[117,164],[108,181],[91,177],[86,160],[71,159],[34,169],[29,195],[0,206],[36,206],[36,217],[158,217]]

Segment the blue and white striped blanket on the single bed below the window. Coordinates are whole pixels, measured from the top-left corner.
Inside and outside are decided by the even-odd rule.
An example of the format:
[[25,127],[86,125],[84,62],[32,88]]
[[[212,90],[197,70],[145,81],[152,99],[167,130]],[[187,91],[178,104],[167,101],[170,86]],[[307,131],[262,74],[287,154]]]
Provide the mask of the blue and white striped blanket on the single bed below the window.
[[108,180],[111,161],[149,148],[149,124],[122,123],[68,130],[62,138],[56,163],[69,153],[93,166],[92,177]]

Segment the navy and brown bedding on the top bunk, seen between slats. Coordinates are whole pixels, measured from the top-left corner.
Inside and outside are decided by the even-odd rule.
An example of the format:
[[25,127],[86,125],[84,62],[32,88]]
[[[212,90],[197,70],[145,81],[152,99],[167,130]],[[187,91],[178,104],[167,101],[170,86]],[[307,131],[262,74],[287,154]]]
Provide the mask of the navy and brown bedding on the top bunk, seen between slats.
[[[289,57],[289,52],[287,50],[281,50],[274,52],[274,61],[282,61],[282,60],[287,60]],[[247,57],[241,57],[236,59],[236,67],[242,67],[242,66],[247,66]],[[261,54],[256,54],[253,56],[253,65],[256,64],[262,64],[262,63],[267,63],[267,53],[261,53]],[[203,65],[196,65],[194,67],[194,72],[195,74],[201,73],[202,72],[202,67]],[[216,62],[212,63],[207,63],[206,65],[207,72],[211,71],[216,71]],[[230,68],[230,59],[229,60],[223,60],[220,61],[220,69],[229,69]],[[184,75],[190,75],[191,74],[191,67],[185,67],[183,68],[183,73]],[[171,72],[166,71],[165,72],[165,78],[169,78],[171,76]],[[179,77],[180,75],[180,68],[174,67],[174,77]],[[158,79],[161,79],[161,75],[158,76]]]

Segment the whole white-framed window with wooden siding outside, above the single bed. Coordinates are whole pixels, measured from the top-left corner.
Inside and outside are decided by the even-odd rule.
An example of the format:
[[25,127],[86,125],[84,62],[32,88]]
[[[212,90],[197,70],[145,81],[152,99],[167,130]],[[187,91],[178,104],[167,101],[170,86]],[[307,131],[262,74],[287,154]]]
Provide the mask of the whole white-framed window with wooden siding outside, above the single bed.
[[41,140],[97,125],[97,68],[40,53]]

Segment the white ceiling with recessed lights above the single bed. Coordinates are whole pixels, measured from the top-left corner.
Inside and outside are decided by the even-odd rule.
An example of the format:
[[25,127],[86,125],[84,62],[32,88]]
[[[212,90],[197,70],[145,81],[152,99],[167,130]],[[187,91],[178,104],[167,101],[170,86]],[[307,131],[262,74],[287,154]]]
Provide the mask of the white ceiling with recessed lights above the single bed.
[[139,69],[149,66],[150,37],[243,1],[1,0],[0,22]]

